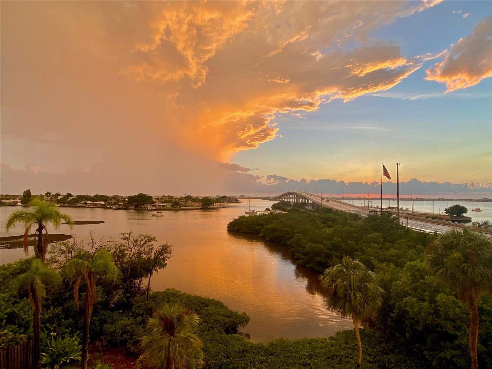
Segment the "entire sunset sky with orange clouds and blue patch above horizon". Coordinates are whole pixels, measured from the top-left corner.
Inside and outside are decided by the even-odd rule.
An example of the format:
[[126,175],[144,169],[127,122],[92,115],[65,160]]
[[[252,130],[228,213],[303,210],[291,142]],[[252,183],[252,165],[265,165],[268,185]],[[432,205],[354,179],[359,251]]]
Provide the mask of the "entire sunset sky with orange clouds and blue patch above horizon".
[[0,10],[1,193],[492,197],[491,1]]

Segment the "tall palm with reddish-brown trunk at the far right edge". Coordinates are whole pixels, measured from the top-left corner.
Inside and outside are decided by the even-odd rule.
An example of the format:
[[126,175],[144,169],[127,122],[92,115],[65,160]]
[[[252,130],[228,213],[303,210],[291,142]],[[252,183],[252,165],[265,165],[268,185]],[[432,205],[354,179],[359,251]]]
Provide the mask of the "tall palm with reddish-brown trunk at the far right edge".
[[438,279],[458,293],[470,314],[471,368],[478,368],[478,302],[484,290],[492,289],[492,241],[486,236],[453,229],[426,250],[426,263]]

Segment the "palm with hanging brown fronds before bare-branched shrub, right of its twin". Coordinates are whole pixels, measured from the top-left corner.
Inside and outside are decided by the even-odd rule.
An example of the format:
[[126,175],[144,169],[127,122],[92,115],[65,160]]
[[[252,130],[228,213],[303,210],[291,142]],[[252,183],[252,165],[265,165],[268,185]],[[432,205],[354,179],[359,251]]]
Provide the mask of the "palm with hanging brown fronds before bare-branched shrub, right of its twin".
[[79,287],[82,281],[86,284],[86,295],[84,298],[84,332],[82,336],[82,368],[87,369],[87,359],[89,351],[89,325],[91,322],[92,307],[97,301],[96,277],[106,277],[116,280],[118,269],[113,263],[113,256],[107,250],[97,251],[92,260],[71,259],[65,272],[67,277],[77,277],[73,287],[73,297],[75,305],[79,308]]

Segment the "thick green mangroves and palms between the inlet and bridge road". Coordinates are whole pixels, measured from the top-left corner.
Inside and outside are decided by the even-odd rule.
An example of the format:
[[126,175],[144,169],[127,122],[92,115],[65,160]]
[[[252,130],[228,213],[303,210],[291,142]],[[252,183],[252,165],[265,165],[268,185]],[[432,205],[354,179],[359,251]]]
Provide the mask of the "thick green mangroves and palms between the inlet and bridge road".
[[490,239],[418,233],[385,214],[273,208],[288,214],[240,216],[228,229],[283,244],[295,263],[324,273],[327,307],[351,316],[357,336],[360,320],[419,368],[491,367]]

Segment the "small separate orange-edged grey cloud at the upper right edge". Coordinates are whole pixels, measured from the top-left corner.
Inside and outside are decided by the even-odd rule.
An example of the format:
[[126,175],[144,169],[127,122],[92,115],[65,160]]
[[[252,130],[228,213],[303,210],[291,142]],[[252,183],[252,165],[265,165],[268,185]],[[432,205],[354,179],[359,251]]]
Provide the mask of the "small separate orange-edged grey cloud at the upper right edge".
[[472,33],[452,44],[444,60],[427,69],[428,81],[446,84],[446,92],[465,89],[492,77],[492,17],[478,23]]

